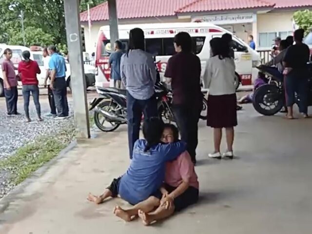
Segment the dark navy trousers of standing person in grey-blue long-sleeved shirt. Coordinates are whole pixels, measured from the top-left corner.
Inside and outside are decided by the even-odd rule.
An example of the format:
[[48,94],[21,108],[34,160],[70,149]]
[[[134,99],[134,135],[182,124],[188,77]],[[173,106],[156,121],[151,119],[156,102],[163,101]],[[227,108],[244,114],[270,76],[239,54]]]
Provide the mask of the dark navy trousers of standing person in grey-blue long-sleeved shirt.
[[144,115],[144,119],[158,117],[156,97],[153,96],[147,100],[138,100],[133,98],[129,92],[127,92],[128,141],[131,159],[133,146],[139,138],[142,113]]

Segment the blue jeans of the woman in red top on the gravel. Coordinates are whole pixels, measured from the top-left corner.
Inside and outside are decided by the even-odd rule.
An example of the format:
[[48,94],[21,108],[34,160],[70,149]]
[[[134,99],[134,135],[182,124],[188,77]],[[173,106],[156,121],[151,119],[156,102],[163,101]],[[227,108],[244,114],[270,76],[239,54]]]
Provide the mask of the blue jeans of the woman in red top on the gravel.
[[34,103],[36,106],[36,111],[38,117],[41,115],[40,103],[39,103],[39,88],[38,85],[23,85],[22,88],[23,98],[24,98],[24,111],[26,118],[29,118],[29,98],[30,94],[33,96]]

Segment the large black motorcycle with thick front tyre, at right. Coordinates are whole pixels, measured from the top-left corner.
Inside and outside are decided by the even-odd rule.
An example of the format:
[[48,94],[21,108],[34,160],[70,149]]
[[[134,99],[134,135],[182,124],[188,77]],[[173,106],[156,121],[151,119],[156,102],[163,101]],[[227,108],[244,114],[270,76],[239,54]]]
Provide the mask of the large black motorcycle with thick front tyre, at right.
[[[309,66],[308,82],[308,105],[312,106],[312,64]],[[273,116],[278,113],[285,105],[285,91],[283,79],[274,75],[267,66],[257,67],[259,71],[267,76],[267,84],[264,84],[254,91],[253,106],[254,109],[264,116]],[[300,97],[296,94],[296,104],[298,105]]]

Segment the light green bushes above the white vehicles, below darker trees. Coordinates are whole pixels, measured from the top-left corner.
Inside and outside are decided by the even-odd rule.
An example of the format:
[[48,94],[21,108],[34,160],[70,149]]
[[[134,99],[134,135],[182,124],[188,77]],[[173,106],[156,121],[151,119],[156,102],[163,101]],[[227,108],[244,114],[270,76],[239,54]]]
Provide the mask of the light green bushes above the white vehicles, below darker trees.
[[[15,31],[12,29],[9,34],[9,43],[11,45],[23,45],[23,35],[21,30]],[[30,26],[25,28],[25,43],[28,47],[31,45],[47,46],[54,43],[54,37],[43,32],[41,28]]]

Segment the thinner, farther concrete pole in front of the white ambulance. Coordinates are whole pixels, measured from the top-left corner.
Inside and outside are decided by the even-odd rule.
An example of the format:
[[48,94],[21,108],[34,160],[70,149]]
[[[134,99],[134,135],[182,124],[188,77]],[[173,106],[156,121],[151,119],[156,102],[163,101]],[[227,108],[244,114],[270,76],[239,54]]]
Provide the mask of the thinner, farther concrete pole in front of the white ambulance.
[[114,42],[118,36],[118,18],[116,0],[108,0],[109,32],[111,35],[111,48],[114,49]]

